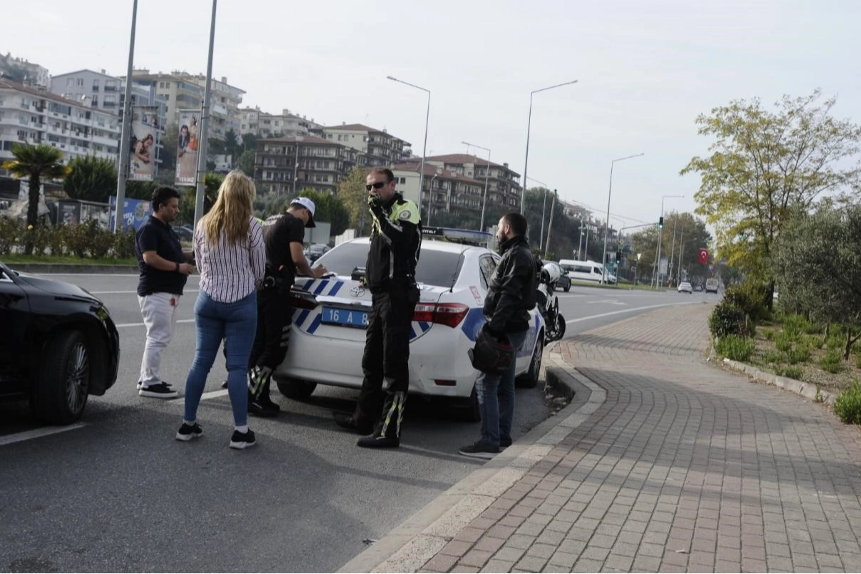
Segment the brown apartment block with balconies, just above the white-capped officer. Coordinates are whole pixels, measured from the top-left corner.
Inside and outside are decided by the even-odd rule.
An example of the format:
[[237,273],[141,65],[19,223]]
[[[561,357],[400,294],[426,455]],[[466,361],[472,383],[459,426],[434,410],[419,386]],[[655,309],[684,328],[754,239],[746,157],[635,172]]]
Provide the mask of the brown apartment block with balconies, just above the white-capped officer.
[[356,155],[346,145],[313,136],[258,139],[254,179],[258,188],[276,194],[302,188],[334,194],[356,165]]

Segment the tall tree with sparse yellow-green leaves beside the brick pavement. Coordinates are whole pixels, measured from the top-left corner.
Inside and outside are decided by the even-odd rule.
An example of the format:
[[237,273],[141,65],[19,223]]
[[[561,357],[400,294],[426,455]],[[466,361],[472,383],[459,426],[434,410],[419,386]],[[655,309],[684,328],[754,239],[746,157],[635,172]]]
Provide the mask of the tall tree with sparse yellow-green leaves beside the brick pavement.
[[728,263],[774,282],[771,249],[785,225],[824,194],[845,197],[858,189],[861,127],[831,115],[835,98],[817,105],[821,92],[777,102],[737,100],[697,117],[698,133],[714,137],[709,157],[693,157],[681,174],[698,173],[697,213],[715,225]]

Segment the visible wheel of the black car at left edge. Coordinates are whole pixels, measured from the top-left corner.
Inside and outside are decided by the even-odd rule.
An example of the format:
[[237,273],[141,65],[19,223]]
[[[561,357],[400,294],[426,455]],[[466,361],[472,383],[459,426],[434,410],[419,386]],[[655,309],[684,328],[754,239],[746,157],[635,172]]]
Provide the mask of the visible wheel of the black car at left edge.
[[84,413],[90,389],[90,351],[84,333],[60,331],[45,346],[30,405],[49,424],[74,423]]

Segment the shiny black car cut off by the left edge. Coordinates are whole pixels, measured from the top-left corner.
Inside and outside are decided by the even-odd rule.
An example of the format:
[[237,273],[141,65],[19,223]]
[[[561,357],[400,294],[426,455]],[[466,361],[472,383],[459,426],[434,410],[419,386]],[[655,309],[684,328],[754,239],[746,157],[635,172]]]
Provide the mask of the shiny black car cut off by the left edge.
[[41,421],[74,423],[114,385],[120,335],[81,287],[0,263],[0,325],[0,398],[28,399]]

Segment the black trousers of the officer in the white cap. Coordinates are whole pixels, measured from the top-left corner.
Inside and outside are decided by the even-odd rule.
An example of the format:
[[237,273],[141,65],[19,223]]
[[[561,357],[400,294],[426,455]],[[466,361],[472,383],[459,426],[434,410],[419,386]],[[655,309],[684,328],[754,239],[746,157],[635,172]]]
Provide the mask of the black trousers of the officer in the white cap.
[[288,290],[267,287],[257,291],[257,334],[248,367],[275,370],[287,355],[292,325],[293,307]]

